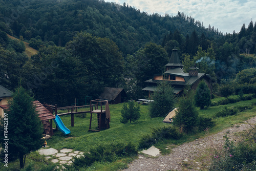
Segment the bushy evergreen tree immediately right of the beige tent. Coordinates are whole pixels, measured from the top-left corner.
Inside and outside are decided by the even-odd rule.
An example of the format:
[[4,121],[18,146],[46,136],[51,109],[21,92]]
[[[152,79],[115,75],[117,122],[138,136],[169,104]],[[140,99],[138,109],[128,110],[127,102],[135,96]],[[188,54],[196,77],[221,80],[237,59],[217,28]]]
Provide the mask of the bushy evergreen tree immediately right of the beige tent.
[[179,98],[178,109],[174,117],[174,125],[180,128],[180,132],[192,132],[198,126],[198,111],[195,107],[193,94],[188,93]]

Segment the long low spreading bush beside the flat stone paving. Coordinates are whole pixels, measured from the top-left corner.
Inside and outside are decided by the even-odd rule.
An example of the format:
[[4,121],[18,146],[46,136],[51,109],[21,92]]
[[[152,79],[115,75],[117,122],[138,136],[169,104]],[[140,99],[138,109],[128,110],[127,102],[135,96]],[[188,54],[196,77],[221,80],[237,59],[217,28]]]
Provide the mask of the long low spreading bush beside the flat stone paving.
[[74,157],[72,165],[65,165],[66,168],[79,170],[84,166],[88,167],[94,162],[114,162],[123,156],[137,155],[138,150],[134,144],[129,143],[102,143],[90,149],[82,157]]

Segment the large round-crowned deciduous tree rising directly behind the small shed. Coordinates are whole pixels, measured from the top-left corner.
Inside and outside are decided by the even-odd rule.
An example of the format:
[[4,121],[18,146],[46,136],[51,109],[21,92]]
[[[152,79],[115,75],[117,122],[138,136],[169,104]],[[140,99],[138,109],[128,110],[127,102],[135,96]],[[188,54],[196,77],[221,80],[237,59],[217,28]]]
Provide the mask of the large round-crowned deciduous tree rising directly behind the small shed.
[[80,58],[91,79],[98,84],[114,87],[121,81],[124,60],[114,41],[81,32],[66,48]]

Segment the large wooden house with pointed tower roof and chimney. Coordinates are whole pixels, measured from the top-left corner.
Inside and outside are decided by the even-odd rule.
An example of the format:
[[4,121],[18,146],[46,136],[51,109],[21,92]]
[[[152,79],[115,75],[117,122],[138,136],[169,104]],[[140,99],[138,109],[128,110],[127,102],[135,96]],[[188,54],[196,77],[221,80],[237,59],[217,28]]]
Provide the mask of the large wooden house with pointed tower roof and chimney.
[[150,93],[155,91],[157,83],[166,80],[174,88],[174,93],[180,94],[187,85],[191,85],[191,89],[196,90],[199,82],[205,80],[211,93],[212,80],[209,74],[198,73],[198,68],[195,67],[190,67],[189,72],[184,73],[183,67],[179,59],[178,50],[173,49],[169,62],[165,65],[165,72],[156,74],[152,79],[146,80],[147,87],[142,90],[148,91],[148,96],[150,97]]

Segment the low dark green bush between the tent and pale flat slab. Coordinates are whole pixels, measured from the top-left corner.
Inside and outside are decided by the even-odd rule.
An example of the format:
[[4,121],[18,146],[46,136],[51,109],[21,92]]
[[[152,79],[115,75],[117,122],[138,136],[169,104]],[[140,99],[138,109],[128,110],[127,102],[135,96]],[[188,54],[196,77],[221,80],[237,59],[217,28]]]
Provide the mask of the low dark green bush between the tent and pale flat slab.
[[152,145],[156,144],[157,142],[163,140],[163,139],[179,139],[182,137],[182,134],[179,133],[179,130],[177,127],[174,126],[164,126],[164,127],[158,127],[156,129],[152,130],[151,135],[144,135],[140,142],[139,142],[139,148],[148,148]]

